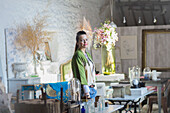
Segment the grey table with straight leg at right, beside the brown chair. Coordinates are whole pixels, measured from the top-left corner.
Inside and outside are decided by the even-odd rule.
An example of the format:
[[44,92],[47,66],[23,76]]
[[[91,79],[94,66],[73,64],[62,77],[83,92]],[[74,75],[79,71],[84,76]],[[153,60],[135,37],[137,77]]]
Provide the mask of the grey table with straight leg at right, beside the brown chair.
[[163,84],[165,84],[168,81],[168,79],[159,79],[157,81],[141,79],[141,81],[145,83],[145,86],[157,86],[158,108],[159,108],[159,113],[161,113],[161,97],[162,97],[161,89]]

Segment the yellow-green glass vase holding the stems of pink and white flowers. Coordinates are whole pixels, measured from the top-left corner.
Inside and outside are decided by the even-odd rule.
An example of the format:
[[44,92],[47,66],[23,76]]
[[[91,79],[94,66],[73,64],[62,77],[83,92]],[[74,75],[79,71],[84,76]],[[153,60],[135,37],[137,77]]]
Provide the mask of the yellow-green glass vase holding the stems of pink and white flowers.
[[102,73],[110,75],[115,73],[115,48],[107,51],[106,46],[101,47],[102,54]]

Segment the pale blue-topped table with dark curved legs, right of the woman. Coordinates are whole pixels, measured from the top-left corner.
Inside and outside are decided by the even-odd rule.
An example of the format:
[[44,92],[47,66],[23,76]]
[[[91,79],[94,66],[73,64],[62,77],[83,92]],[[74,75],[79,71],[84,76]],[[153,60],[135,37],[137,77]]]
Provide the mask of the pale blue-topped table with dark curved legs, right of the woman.
[[[116,97],[116,98],[106,98],[106,100],[111,101],[112,103],[114,102],[119,102],[121,104],[121,102],[126,102],[126,104],[124,105],[123,109],[125,109],[127,107],[127,104],[129,102],[134,103],[134,113],[137,113],[136,111],[136,107],[137,107],[137,103],[140,102],[141,98],[153,93],[154,91],[147,91],[146,93],[144,93],[143,95],[125,95],[124,98],[121,97]],[[122,110],[123,110],[122,109]]]

